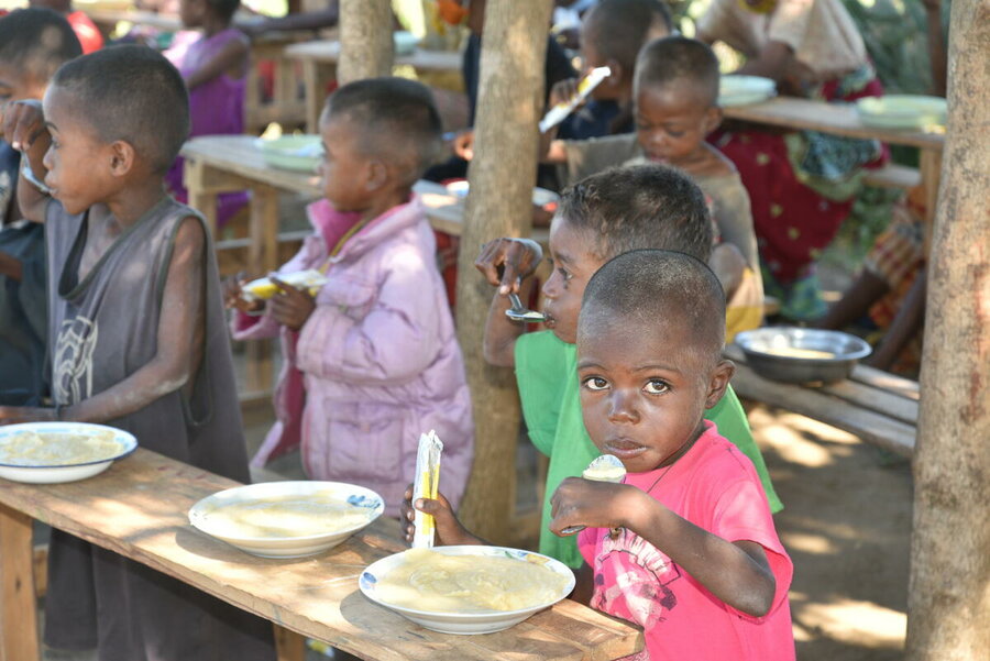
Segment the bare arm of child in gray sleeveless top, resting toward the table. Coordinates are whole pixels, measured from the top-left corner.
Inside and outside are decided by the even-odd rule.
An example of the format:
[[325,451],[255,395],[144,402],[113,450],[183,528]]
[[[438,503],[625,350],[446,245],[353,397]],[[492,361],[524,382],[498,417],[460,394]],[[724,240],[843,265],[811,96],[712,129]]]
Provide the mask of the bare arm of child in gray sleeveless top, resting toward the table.
[[117,385],[63,409],[64,419],[80,422],[113,420],[133,414],[190,382],[202,359],[205,243],[199,221],[195,218],[183,221],[165,280],[155,356]]

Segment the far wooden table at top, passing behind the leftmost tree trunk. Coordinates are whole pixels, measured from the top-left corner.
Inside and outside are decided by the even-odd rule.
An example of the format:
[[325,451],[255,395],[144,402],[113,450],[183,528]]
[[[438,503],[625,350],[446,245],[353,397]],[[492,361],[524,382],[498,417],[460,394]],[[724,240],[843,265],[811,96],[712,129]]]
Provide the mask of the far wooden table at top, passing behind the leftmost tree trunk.
[[[316,133],[320,112],[327,97],[327,84],[333,79],[340,58],[340,42],[318,40],[294,44],[285,49],[286,57],[302,66],[306,96],[306,130]],[[416,48],[409,55],[395,58],[396,65],[408,65],[417,71],[460,71],[461,54],[451,51],[425,51]]]

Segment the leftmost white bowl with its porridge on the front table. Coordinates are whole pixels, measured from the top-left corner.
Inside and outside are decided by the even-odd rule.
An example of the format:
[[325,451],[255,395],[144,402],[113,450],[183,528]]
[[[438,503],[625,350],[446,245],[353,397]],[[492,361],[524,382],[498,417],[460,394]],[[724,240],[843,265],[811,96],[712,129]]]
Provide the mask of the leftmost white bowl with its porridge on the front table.
[[132,434],[84,422],[0,427],[0,477],[32,484],[76,482],[102,473],[138,448]]

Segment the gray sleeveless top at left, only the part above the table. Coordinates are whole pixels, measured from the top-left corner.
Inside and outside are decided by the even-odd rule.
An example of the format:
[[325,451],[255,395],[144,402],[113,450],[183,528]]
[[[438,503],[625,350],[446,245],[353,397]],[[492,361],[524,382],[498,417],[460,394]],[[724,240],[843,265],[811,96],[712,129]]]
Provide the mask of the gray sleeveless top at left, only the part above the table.
[[[88,212],[68,216],[59,202],[48,205],[46,225],[58,228],[46,232],[56,403],[92,397],[154,357],[158,321],[167,313],[162,297],[175,235],[190,216],[199,218],[189,207],[164,198],[124,231],[80,282]],[[176,390],[108,423],[133,433],[142,448],[248,482],[220,278],[209,240],[206,252],[206,345],[191,396]]]

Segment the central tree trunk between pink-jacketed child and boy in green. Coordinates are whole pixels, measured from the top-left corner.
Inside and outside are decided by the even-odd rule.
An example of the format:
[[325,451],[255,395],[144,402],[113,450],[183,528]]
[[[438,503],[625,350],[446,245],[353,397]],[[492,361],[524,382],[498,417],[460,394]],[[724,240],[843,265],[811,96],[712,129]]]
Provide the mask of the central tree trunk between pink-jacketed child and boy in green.
[[474,470],[460,516],[473,531],[506,542],[515,510],[519,401],[512,370],[492,367],[482,340],[494,289],[474,269],[481,245],[529,235],[543,109],[550,0],[488,2],[481,56],[471,194],[458,260],[458,338],[474,400]]

